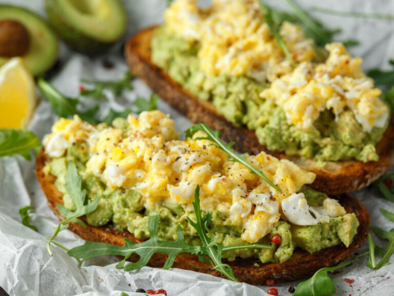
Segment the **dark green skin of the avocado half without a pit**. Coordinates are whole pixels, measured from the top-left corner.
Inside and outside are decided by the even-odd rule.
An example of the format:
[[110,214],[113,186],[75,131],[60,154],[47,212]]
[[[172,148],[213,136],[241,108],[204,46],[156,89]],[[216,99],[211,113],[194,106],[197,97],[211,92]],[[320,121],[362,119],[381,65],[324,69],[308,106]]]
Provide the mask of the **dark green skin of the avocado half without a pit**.
[[103,42],[86,36],[78,32],[76,28],[73,28],[57,7],[56,1],[45,0],[45,9],[48,21],[67,46],[76,52],[86,55],[98,55],[106,52],[114,43],[122,39],[127,27],[126,25],[124,26],[119,39]]

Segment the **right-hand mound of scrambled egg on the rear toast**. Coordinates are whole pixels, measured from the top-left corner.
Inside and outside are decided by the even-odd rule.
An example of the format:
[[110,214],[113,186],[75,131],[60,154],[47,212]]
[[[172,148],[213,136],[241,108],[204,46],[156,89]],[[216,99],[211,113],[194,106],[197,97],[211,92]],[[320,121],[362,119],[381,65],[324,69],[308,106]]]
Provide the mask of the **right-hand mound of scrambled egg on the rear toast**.
[[352,110],[364,132],[374,126],[384,127],[389,110],[365,76],[362,59],[352,58],[341,43],[326,45],[329,57],[325,63],[303,62],[293,72],[272,82],[262,91],[262,98],[283,107],[289,124],[307,130],[325,109],[338,116]]

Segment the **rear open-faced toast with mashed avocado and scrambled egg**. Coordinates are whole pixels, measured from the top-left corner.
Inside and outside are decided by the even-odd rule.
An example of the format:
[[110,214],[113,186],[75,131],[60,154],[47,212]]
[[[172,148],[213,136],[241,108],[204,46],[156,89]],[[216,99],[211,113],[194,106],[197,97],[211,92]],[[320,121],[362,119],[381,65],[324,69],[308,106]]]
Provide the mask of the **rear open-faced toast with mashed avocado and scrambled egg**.
[[320,191],[361,189],[390,168],[389,108],[360,58],[331,43],[322,59],[300,25],[283,22],[286,54],[258,0],[196,3],[175,0],[162,26],[125,48],[132,72],[157,94],[240,152],[266,151],[316,173]]

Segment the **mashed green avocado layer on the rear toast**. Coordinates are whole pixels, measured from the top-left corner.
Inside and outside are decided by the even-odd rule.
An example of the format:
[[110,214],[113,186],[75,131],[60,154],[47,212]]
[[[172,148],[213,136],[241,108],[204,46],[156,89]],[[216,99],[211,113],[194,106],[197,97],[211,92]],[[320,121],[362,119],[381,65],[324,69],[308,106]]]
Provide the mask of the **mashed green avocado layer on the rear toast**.
[[243,76],[205,75],[199,67],[198,43],[180,39],[161,27],[151,47],[152,61],[165,69],[172,79],[196,97],[210,100],[228,121],[254,130],[259,142],[271,151],[323,162],[379,160],[375,144],[382,138],[388,120],[384,127],[373,127],[366,133],[350,110],[337,119],[330,110],[325,110],[312,128],[300,130],[287,123],[282,107],[259,97],[267,85]]

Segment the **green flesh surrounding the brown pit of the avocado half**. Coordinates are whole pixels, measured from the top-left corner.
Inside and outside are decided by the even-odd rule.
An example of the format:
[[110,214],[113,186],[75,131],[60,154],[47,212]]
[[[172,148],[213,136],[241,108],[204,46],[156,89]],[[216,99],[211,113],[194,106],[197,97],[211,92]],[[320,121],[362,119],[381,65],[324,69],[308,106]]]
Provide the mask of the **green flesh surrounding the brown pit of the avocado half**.
[[[3,20],[17,21],[28,31],[30,44],[21,58],[34,76],[41,75],[53,66],[58,55],[58,40],[41,17],[21,7],[0,5],[0,21]],[[9,60],[10,57],[0,56],[0,66]]]

